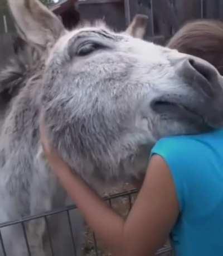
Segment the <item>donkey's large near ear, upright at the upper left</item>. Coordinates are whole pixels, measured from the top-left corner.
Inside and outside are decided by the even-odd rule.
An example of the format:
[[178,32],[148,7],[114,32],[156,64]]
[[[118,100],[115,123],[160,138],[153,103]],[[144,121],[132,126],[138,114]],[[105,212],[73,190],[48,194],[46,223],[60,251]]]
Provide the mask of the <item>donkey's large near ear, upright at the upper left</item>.
[[8,0],[9,9],[23,40],[46,48],[65,31],[59,18],[38,0]]

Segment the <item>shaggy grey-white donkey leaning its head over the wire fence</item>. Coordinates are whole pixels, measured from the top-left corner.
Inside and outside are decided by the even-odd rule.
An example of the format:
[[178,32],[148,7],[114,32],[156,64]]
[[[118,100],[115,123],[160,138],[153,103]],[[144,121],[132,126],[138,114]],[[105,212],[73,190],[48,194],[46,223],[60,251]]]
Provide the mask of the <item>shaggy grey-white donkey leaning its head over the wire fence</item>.
[[[30,48],[0,80],[10,98],[1,110],[1,222],[69,201],[45,162],[40,118],[54,147],[94,189],[141,178],[163,136],[222,126],[223,80],[205,60],[100,24],[67,31],[37,0],[8,3]],[[55,216],[51,224],[58,256],[73,255],[64,223]],[[42,219],[27,224],[32,256],[51,255],[46,230]],[[20,227],[2,234],[8,255],[28,255]]]

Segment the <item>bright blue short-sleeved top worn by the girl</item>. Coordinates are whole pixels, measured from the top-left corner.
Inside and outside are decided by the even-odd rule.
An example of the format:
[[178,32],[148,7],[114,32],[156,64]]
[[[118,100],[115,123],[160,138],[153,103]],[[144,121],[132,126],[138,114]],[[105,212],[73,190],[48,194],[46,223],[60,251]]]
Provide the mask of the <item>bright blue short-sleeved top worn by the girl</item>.
[[171,171],[180,216],[171,232],[176,256],[223,255],[223,130],[157,142]]

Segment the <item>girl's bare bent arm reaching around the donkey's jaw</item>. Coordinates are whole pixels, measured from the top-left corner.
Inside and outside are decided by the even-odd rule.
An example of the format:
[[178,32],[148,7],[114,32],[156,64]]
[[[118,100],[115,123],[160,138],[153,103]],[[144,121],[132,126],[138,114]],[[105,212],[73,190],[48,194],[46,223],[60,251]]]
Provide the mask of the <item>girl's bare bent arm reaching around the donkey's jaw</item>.
[[47,146],[45,154],[62,186],[85,220],[114,256],[154,255],[167,240],[179,214],[171,173],[158,155],[151,158],[143,186],[127,220],[117,215]]

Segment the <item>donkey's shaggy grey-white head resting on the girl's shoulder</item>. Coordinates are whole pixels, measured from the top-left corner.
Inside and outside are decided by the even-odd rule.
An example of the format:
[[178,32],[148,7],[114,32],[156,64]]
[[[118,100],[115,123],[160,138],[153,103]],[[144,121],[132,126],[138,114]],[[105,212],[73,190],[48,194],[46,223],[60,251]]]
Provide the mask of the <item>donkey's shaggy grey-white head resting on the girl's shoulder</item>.
[[86,181],[137,177],[159,138],[221,124],[211,112],[223,81],[206,61],[99,24],[66,31],[37,0],[8,1],[23,39],[47,53],[49,138]]

